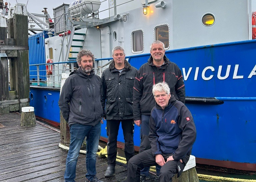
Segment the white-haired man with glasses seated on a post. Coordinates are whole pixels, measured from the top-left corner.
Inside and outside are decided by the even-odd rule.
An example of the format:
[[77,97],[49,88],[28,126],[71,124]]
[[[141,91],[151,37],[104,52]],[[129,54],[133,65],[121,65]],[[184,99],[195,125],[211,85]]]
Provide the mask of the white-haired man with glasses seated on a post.
[[167,83],[153,85],[156,106],[151,111],[149,140],[151,149],[128,162],[127,182],[139,182],[144,167],[161,166],[159,182],[171,182],[183,171],[196,139],[196,127],[188,108],[170,94]]

